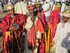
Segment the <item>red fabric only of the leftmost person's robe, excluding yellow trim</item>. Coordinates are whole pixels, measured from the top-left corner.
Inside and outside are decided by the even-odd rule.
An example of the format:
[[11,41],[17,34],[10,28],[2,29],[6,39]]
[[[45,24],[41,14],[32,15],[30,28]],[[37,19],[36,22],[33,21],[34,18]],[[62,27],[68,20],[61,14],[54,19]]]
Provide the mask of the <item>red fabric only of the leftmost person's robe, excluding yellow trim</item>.
[[[15,14],[14,15],[14,23],[17,23],[17,24],[21,24],[23,22],[24,19],[24,15],[22,14]],[[7,53],[7,50],[6,50],[6,32],[9,31],[9,27],[11,26],[11,22],[12,22],[12,19],[11,19],[11,16],[10,14],[7,14],[4,19],[3,19],[3,53]],[[18,31],[18,34],[20,32]],[[17,34],[17,37],[19,38],[19,35]],[[12,34],[9,35],[9,39],[8,41],[11,41],[12,40]]]

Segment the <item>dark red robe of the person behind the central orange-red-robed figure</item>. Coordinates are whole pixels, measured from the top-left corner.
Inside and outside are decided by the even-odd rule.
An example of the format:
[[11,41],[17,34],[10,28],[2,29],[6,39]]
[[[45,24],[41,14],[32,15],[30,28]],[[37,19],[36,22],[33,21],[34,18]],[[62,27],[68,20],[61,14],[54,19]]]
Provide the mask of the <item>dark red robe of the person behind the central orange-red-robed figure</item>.
[[[44,15],[44,13],[38,12],[38,17],[40,17],[42,25],[43,25],[44,29],[46,30],[48,27],[48,23],[46,21],[46,17]],[[42,34],[42,38],[39,41],[39,44],[40,44],[39,45],[39,53],[45,53],[45,36],[44,36],[44,33]]]

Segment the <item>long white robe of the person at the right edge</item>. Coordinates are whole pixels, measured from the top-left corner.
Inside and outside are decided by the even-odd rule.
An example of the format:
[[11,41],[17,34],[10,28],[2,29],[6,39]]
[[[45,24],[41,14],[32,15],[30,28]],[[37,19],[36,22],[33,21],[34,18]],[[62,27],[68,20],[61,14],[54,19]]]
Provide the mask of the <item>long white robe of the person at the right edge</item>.
[[[64,27],[63,27],[64,26]],[[54,37],[55,41],[55,53],[67,53],[67,49],[61,46],[63,39],[67,36],[67,33],[70,32],[70,23],[60,22],[57,26],[56,34]]]

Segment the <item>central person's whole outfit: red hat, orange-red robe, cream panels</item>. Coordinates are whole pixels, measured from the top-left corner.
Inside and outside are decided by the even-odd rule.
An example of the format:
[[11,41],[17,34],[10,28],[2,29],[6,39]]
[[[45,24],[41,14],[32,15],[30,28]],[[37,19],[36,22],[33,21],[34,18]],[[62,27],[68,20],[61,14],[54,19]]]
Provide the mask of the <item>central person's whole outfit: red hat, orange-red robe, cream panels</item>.
[[[31,6],[32,5],[28,6],[28,9],[32,8]],[[37,16],[34,16],[33,18],[34,22],[32,21],[31,15],[28,16],[25,28],[28,31],[28,45],[31,47],[32,52],[37,53],[39,47],[39,40],[41,40],[42,38],[42,33],[44,33],[44,28],[41,20]]]

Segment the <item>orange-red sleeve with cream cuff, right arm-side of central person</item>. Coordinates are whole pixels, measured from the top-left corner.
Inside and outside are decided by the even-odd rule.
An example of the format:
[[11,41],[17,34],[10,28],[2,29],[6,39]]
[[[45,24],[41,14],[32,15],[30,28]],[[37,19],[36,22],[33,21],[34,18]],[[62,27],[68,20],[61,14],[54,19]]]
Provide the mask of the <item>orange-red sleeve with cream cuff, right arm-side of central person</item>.
[[43,28],[43,25],[42,25],[40,19],[37,20],[36,28],[37,28],[36,38],[41,39],[41,35],[42,35],[42,33],[44,33],[44,28]]

